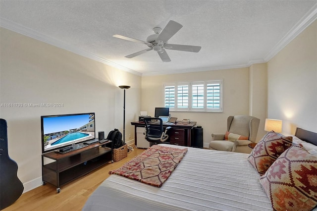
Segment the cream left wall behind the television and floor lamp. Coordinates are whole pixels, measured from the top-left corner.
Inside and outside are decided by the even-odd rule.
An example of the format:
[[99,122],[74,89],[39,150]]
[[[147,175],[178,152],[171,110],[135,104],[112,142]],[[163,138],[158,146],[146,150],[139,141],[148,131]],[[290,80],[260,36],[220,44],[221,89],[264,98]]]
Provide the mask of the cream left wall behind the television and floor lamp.
[[[123,130],[126,141],[141,107],[141,77],[0,28],[0,117],[8,124],[8,153],[26,183],[42,177],[41,115],[95,112],[96,132]],[[5,104],[60,103],[62,107],[7,107]],[[98,135],[98,133],[97,133]],[[25,190],[27,191],[27,190]]]

